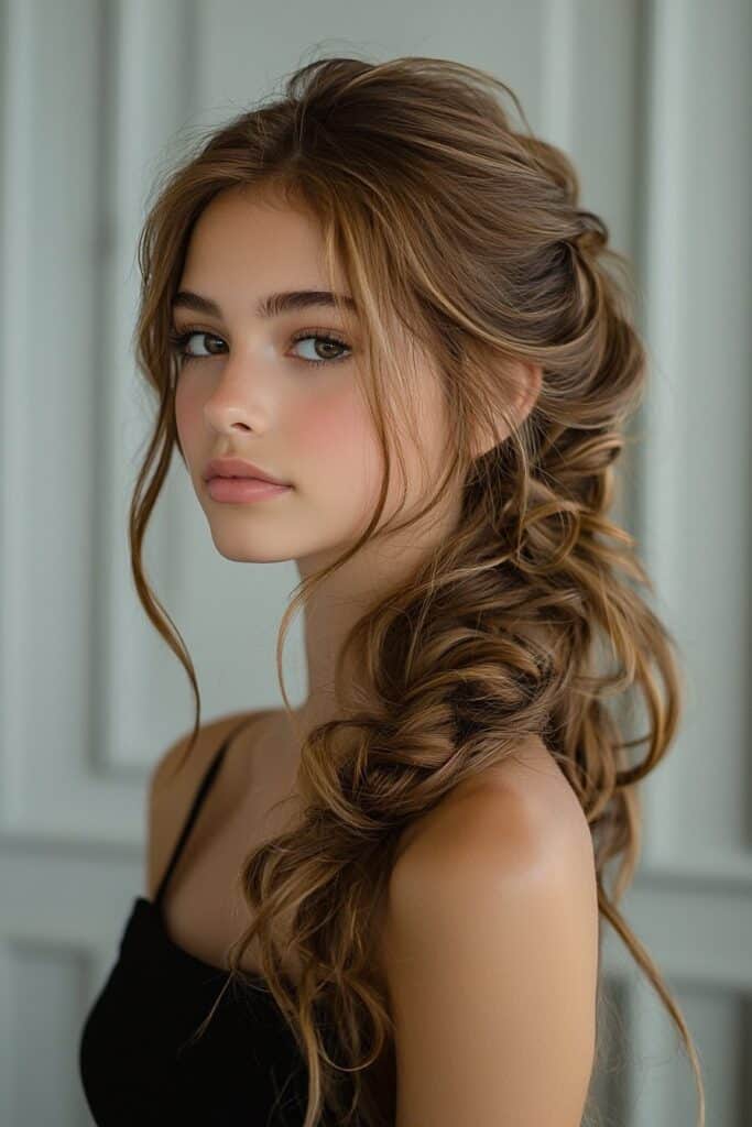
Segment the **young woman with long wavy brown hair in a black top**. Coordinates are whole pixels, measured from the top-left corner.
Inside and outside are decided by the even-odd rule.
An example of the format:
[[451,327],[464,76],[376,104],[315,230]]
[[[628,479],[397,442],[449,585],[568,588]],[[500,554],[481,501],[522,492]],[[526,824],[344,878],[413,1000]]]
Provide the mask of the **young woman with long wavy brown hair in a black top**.
[[[196,719],[83,1030],[103,1127],[577,1127],[601,917],[704,1121],[617,908],[680,706],[608,516],[646,353],[570,162],[497,90],[524,121],[460,63],[318,60],[147,219],[133,573]],[[282,685],[283,709],[200,722],[141,562],[176,447],[222,556],[297,562],[298,710]],[[630,690],[631,742],[608,707]]]

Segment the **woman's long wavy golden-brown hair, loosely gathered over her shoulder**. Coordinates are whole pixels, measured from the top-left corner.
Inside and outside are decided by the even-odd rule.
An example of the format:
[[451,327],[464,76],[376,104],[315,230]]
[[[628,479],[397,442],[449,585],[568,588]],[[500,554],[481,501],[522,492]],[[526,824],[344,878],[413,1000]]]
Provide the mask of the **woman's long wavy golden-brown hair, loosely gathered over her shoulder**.
[[[525,131],[513,127],[499,91]],[[444,490],[460,491],[461,516],[397,589],[377,593],[348,633],[336,668],[340,718],[307,735],[294,727],[303,813],[245,860],[242,894],[255,919],[228,952],[225,987],[262,988],[240,966],[256,937],[263,988],[307,1065],[303,1127],[326,1122],[329,1111],[337,1124],[393,1124],[395,1027],[373,969],[374,905],[410,824],[537,735],[591,827],[600,922],[621,937],[681,1033],[702,1127],[704,1085],[687,1024],[618,908],[640,851],[638,784],[676,734],[684,691],[674,638],[639,591],[654,593],[636,540],[609,518],[614,464],[631,441],[623,426],[647,370],[629,263],[608,247],[603,220],[580,206],[572,162],[533,135],[512,90],[454,61],[319,57],[287,76],[278,97],[202,133],[168,170],[139,240],[136,361],[158,409],[130,543],[139,597],[193,686],[187,752],[201,728],[198,686],[147,583],[142,545],[176,446],[185,461],[171,298],[196,219],[238,185],[272,190],[320,224],[330,289],[338,263],[361,312],[356,378],[383,454],[370,524],[335,564],[301,580],[282,619],[277,675],[293,726],[282,647],[295,610],[366,541],[425,518]],[[398,327],[435,362],[451,450],[414,521],[377,532],[395,459],[404,472],[400,420],[419,410],[393,347]],[[511,412],[515,360],[542,370],[521,424]],[[480,456],[478,433],[496,436]],[[368,702],[347,699],[348,651],[366,673]],[[647,724],[628,739],[625,706],[635,692]],[[281,939],[283,912],[293,924]],[[283,949],[303,968],[297,984],[282,967]],[[600,977],[598,993],[600,1014]]]

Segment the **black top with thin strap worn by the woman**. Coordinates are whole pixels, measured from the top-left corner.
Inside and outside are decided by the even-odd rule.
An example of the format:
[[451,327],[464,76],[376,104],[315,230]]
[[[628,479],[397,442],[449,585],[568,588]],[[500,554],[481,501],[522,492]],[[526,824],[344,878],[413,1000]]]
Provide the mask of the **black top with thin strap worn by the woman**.
[[238,727],[201,782],[154,900],[135,898],[117,960],[86,1019],[79,1070],[98,1127],[303,1121],[308,1068],[260,975],[249,976],[253,990],[228,987],[206,1030],[187,1044],[229,973],[174,943],[161,915],[167,882]]

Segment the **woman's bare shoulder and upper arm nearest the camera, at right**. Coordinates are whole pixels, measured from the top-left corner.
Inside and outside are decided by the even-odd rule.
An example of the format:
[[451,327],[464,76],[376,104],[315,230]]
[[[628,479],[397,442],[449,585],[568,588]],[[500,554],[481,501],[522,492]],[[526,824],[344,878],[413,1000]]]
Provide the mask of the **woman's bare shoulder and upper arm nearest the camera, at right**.
[[530,758],[532,771],[504,764],[440,807],[392,872],[382,958],[397,1127],[580,1122],[595,1041],[594,858],[555,761]]

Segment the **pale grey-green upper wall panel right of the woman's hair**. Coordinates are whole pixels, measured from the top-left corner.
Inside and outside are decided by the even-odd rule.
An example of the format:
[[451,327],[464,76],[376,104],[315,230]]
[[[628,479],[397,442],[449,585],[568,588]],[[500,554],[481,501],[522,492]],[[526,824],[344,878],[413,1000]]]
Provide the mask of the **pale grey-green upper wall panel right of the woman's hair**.
[[[645,204],[643,536],[687,656],[679,746],[648,791],[661,866],[752,878],[752,8],[656,5]],[[751,880],[752,887],[752,880]]]

